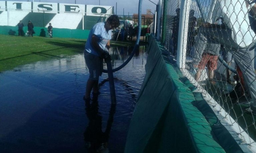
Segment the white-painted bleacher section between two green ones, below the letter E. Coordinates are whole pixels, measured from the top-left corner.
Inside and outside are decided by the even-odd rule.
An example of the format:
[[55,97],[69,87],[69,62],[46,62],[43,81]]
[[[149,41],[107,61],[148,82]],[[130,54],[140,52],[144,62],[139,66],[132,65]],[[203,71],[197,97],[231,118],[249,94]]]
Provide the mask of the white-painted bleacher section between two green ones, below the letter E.
[[81,14],[56,14],[50,23],[54,28],[76,29],[82,17]]

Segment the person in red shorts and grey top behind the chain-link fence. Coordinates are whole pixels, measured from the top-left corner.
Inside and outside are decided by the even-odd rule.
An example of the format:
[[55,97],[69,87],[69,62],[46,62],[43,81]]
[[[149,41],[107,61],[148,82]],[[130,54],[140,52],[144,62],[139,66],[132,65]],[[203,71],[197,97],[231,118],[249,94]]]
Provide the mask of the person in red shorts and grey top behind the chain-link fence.
[[202,71],[207,65],[208,79],[212,80],[214,77],[214,70],[217,69],[218,56],[220,51],[220,44],[206,42],[206,47],[202,53],[202,59],[198,64],[198,71],[195,74],[195,80],[198,81]]

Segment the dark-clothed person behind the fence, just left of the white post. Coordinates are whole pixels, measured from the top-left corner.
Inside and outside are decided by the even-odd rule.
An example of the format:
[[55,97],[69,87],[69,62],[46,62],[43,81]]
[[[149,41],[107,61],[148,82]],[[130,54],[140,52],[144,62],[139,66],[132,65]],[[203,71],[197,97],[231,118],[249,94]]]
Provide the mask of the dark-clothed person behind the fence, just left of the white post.
[[172,27],[172,40],[173,40],[173,55],[177,54],[177,46],[178,46],[178,35],[179,35],[179,22],[180,22],[180,8],[176,10],[176,16],[173,19],[173,27]]

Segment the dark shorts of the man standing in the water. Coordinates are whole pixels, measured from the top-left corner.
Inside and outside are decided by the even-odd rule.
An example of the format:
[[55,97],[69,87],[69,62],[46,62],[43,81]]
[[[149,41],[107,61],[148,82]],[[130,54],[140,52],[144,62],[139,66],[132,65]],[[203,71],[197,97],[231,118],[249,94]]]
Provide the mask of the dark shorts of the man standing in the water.
[[84,59],[89,69],[89,78],[91,80],[99,80],[103,69],[103,59],[88,52],[84,53]]

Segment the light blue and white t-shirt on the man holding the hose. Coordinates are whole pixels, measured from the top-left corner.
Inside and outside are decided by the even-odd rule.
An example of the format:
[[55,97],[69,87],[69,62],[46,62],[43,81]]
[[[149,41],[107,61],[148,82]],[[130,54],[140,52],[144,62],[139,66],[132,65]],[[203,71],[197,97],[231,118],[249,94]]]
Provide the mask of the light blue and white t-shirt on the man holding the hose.
[[91,29],[88,39],[85,43],[85,51],[99,56],[97,51],[92,47],[92,35],[96,35],[97,37],[99,37],[98,44],[103,50],[105,49],[108,40],[111,39],[111,30],[107,32],[104,25],[104,22],[100,22],[95,24],[94,27]]

